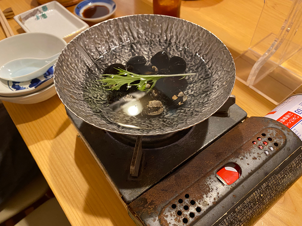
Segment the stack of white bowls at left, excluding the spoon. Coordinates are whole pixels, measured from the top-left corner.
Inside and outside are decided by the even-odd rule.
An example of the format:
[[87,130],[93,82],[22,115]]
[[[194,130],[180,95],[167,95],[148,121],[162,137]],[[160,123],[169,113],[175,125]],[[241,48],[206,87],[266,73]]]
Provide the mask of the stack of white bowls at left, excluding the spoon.
[[[49,58],[60,53],[66,42],[47,33],[23,33],[0,41],[0,67],[19,58]],[[44,74],[25,82],[0,78],[0,100],[19,104],[34,104],[56,94],[51,66]]]

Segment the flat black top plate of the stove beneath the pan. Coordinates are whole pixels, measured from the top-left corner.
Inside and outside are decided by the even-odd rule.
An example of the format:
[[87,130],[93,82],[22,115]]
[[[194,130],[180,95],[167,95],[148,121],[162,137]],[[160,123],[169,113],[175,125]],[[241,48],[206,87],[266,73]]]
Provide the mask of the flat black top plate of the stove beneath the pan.
[[[137,137],[129,140],[129,136],[108,133],[85,123],[69,110],[66,109],[66,111],[89,151],[98,160],[106,172],[106,176],[109,177],[113,187],[125,203],[137,199],[246,118],[246,112],[233,104],[229,109],[224,109],[219,114],[215,113],[207,120],[192,127],[191,130],[163,135],[162,139],[168,138],[169,143],[172,143],[170,145],[168,145],[169,143],[161,143],[160,136],[156,136],[153,137],[155,140],[153,139],[149,143],[153,143],[153,145],[154,143],[161,143],[159,146],[163,147],[142,149],[141,146],[137,146],[135,149],[133,146]],[[178,135],[179,137],[177,137]],[[115,137],[118,138],[115,139]],[[259,141],[256,138],[254,140],[257,146],[264,141]],[[149,138],[144,137],[144,139],[148,140]],[[124,142],[122,143],[120,140],[124,140]],[[252,140],[250,142],[252,143]],[[148,146],[147,141],[145,144]],[[145,144],[143,144],[144,147]],[[267,148],[270,146],[275,149],[273,143],[269,143]],[[268,151],[271,152],[270,149]],[[142,157],[140,158],[140,156]],[[138,171],[137,177],[133,176],[132,170],[136,173]],[[189,196],[191,198],[191,194]],[[195,217],[197,212],[194,212]],[[190,219],[190,216],[187,219]]]

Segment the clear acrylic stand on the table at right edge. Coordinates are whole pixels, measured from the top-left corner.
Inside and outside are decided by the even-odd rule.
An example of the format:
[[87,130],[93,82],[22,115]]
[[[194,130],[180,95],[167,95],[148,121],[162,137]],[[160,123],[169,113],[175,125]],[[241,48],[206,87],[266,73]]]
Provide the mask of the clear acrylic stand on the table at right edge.
[[278,105],[302,88],[302,0],[265,0],[236,78]]

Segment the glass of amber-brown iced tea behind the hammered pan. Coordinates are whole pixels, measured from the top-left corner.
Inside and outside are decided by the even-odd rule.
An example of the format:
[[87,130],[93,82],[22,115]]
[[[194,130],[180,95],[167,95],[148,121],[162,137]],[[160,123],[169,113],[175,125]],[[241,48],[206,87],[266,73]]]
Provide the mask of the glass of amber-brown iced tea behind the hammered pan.
[[153,13],[179,17],[181,0],[153,0]]

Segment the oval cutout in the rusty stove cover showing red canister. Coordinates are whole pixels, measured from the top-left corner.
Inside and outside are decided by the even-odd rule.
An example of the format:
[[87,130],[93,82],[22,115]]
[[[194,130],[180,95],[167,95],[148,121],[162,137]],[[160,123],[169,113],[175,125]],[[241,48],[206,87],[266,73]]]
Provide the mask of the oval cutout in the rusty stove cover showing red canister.
[[241,176],[241,168],[233,162],[229,162],[218,170],[217,178],[226,185],[233,184]]

